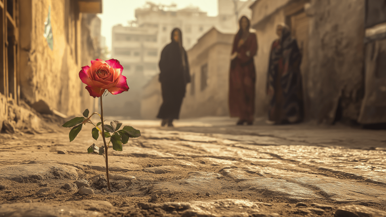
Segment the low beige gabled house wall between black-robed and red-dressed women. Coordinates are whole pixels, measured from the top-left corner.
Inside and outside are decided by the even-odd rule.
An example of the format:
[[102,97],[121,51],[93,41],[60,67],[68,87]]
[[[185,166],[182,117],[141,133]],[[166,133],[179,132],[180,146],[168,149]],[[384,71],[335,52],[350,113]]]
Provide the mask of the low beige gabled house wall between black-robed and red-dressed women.
[[[181,107],[181,118],[229,115],[229,66],[232,44],[215,44],[190,60],[195,81],[186,86],[186,96]],[[201,66],[208,64],[207,87],[200,90]],[[195,92],[191,94],[191,85]]]

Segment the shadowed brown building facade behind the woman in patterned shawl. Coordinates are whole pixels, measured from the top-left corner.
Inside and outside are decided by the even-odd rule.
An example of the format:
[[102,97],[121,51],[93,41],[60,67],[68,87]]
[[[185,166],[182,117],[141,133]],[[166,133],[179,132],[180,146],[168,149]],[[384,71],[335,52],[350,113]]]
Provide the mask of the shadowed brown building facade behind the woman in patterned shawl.
[[277,37],[276,25],[284,22],[303,54],[306,120],[386,122],[384,1],[256,0],[250,8],[259,38],[255,58],[258,115],[266,115],[269,50]]

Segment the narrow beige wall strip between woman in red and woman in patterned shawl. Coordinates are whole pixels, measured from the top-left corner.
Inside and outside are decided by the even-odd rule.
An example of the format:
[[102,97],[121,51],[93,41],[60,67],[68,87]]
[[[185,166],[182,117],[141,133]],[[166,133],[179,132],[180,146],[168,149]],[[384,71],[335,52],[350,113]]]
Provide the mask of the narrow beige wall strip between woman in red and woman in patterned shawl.
[[[278,38],[276,35],[276,26],[284,22],[283,10],[278,10],[269,17],[254,25],[257,36],[257,55],[255,56],[256,66],[256,117],[267,115],[268,97],[266,94],[267,71],[269,64],[269,54],[271,52],[272,42]],[[252,23],[253,24],[253,23]]]

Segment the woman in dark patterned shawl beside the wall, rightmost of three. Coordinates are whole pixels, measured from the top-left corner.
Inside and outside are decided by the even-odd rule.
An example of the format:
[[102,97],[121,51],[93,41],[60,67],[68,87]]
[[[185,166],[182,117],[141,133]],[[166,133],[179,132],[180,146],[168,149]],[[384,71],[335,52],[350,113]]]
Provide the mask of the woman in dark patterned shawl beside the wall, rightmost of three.
[[293,124],[303,120],[301,53],[289,27],[279,24],[279,39],[272,43],[266,92],[269,96],[268,119],[274,124]]

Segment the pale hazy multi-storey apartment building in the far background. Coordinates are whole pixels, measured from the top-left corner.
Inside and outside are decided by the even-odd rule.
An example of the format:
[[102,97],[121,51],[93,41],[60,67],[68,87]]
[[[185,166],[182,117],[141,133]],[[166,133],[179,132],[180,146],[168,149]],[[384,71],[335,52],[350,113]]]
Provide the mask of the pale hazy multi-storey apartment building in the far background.
[[[170,43],[171,31],[174,28],[181,29],[183,46],[188,51],[213,27],[220,32],[235,34],[239,28],[239,17],[242,15],[251,17],[249,5],[252,2],[252,0],[218,0],[216,17],[208,16],[207,12],[201,11],[198,7],[177,9],[175,4],[157,5],[147,2],[143,8],[135,10],[137,20],[130,22],[129,26],[113,27],[112,58],[119,59],[125,64],[130,80],[135,80],[129,92],[131,91],[130,95],[136,97],[134,99],[132,96],[127,96],[126,100],[132,101],[127,103],[135,107],[135,110],[140,108],[140,105],[136,105],[141,101],[142,86],[139,85],[144,85],[153,76],[159,74],[160,54],[163,47]],[[141,81],[144,82],[138,80],[139,78],[143,78]],[[126,111],[122,110],[121,113],[124,115]]]

